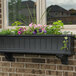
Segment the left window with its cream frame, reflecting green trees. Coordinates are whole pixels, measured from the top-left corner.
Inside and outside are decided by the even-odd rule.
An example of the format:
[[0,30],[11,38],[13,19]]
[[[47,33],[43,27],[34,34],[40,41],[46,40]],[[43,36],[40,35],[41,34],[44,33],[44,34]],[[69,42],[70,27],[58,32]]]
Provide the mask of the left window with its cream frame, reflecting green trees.
[[[41,19],[44,12],[44,0],[2,0],[3,2],[3,28],[11,28],[14,21],[22,21],[27,26],[31,22],[44,24],[46,18]],[[31,6],[32,5],[32,6]],[[23,25],[22,25],[23,26]]]

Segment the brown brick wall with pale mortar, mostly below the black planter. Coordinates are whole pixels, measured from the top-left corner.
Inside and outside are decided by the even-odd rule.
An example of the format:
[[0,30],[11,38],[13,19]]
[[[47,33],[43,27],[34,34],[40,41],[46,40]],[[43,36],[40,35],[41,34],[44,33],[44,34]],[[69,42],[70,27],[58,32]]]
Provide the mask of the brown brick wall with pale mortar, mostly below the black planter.
[[[74,45],[76,51],[76,41]],[[9,62],[0,54],[0,76],[76,76],[76,55],[69,57],[69,65],[62,65],[60,59],[51,55],[14,54],[14,57],[15,61]]]

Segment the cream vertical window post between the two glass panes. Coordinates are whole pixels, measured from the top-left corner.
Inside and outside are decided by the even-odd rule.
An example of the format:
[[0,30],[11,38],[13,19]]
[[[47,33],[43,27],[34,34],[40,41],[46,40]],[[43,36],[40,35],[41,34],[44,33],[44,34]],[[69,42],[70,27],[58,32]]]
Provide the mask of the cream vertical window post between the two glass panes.
[[46,2],[45,0],[39,0],[37,4],[37,24],[46,24]]

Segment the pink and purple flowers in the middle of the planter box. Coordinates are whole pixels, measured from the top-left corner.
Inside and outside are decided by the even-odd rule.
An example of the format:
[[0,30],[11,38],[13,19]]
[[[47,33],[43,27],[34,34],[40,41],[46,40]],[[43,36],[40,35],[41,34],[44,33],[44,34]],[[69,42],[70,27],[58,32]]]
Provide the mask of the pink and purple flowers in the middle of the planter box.
[[46,34],[47,31],[46,31],[46,27],[47,25],[36,25],[36,24],[29,24],[29,27],[28,29],[26,29],[25,27],[21,27],[18,29],[18,35],[21,35],[23,33],[26,33],[26,34]]

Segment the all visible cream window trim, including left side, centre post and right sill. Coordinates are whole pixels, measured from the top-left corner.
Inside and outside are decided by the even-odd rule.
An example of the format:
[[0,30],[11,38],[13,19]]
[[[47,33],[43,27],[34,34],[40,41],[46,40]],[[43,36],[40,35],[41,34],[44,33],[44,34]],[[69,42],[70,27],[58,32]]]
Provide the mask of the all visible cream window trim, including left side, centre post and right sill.
[[[14,28],[12,26],[8,26],[8,15],[7,15],[7,1],[2,0],[3,2],[3,29],[7,28]],[[37,24],[39,23],[39,20],[41,19],[41,16],[46,10],[46,0],[37,0]],[[40,24],[46,24],[46,13],[44,14],[42,20],[40,20]],[[64,25],[64,30],[62,31],[72,31],[76,33],[76,25]]]

